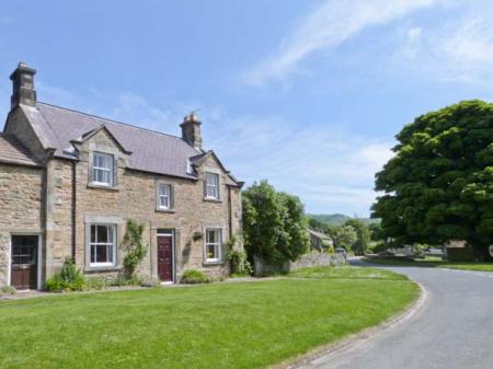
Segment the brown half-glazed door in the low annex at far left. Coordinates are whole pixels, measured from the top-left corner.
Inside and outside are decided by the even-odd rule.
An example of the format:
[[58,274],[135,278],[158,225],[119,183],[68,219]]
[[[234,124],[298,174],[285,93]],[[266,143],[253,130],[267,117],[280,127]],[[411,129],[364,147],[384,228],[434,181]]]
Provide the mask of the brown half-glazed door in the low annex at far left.
[[37,235],[12,235],[11,285],[16,289],[37,288]]

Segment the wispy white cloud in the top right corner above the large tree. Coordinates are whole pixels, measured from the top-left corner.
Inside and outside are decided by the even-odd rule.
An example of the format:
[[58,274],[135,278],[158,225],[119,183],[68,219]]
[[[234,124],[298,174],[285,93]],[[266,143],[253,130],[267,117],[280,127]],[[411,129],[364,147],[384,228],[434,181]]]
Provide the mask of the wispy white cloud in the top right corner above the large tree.
[[[481,11],[479,11],[481,9]],[[410,27],[400,39],[395,69],[417,72],[437,81],[461,82],[491,90],[493,83],[493,7],[473,2],[456,16]],[[420,32],[414,30],[420,30]],[[403,68],[405,66],[405,68]]]

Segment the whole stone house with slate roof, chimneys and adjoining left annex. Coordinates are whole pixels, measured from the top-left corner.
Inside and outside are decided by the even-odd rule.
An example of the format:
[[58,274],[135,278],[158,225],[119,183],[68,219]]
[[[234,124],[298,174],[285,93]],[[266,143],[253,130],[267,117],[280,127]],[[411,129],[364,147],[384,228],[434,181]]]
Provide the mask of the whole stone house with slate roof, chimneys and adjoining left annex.
[[66,257],[88,276],[116,277],[129,219],[145,224],[142,276],[227,275],[243,183],[203,149],[197,116],[175,137],[41,103],[35,72],[20,64],[10,76],[0,132],[0,287],[41,289]]

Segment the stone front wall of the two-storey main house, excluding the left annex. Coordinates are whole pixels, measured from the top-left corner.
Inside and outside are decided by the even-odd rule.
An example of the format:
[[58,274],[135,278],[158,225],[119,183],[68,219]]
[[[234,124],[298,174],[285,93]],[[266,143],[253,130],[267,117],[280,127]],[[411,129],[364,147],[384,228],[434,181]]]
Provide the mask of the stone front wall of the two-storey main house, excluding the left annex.
[[[169,177],[152,173],[139,172],[126,169],[127,158],[121,151],[118,145],[104,130],[101,130],[80,148],[80,161],[76,164],[76,262],[78,267],[91,274],[100,274],[99,270],[90,270],[85,261],[85,234],[92,219],[110,219],[118,224],[118,243],[125,233],[125,223],[128,219],[135,219],[145,224],[144,239],[149,245],[148,253],[141,264],[141,274],[157,276],[157,234],[158,230],[174,231],[175,238],[175,279],[185,268],[203,269],[211,276],[225,276],[229,272],[226,262],[207,264],[204,262],[204,239],[194,241],[194,233],[205,233],[208,227],[220,228],[222,238],[230,232],[240,230],[241,199],[239,188],[226,186],[227,174],[220,165],[209,158],[198,169],[198,181]],[[96,187],[89,183],[90,163],[92,151],[112,153],[118,158],[116,185],[112,188]],[[58,239],[54,239],[53,261],[55,268],[60,266],[65,256],[70,255],[71,224],[71,163],[55,160],[57,174],[54,189],[54,221]],[[219,200],[204,199],[204,173],[220,173]],[[174,208],[169,211],[157,209],[157,184],[169,183],[173,186]],[[231,192],[231,230],[229,226],[228,193]],[[65,223],[62,223],[65,221]],[[223,256],[225,252],[222,253]],[[117,268],[107,273],[117,273],[122,267],[124,252],[118,249]],[[104,272],[105,273],[105,272]]]

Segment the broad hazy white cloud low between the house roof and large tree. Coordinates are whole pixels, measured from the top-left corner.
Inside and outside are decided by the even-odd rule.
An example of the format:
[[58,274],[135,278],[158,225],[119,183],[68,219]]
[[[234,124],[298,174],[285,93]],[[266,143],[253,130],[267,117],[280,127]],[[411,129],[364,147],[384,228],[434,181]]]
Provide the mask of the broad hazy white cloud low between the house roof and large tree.
[[248,184],[267,178],[318,212],[367,216],[375,199],[374,175],[392,155],[394,143],[279,116],[205,115],[203,120],[205,143],[234,175]]

